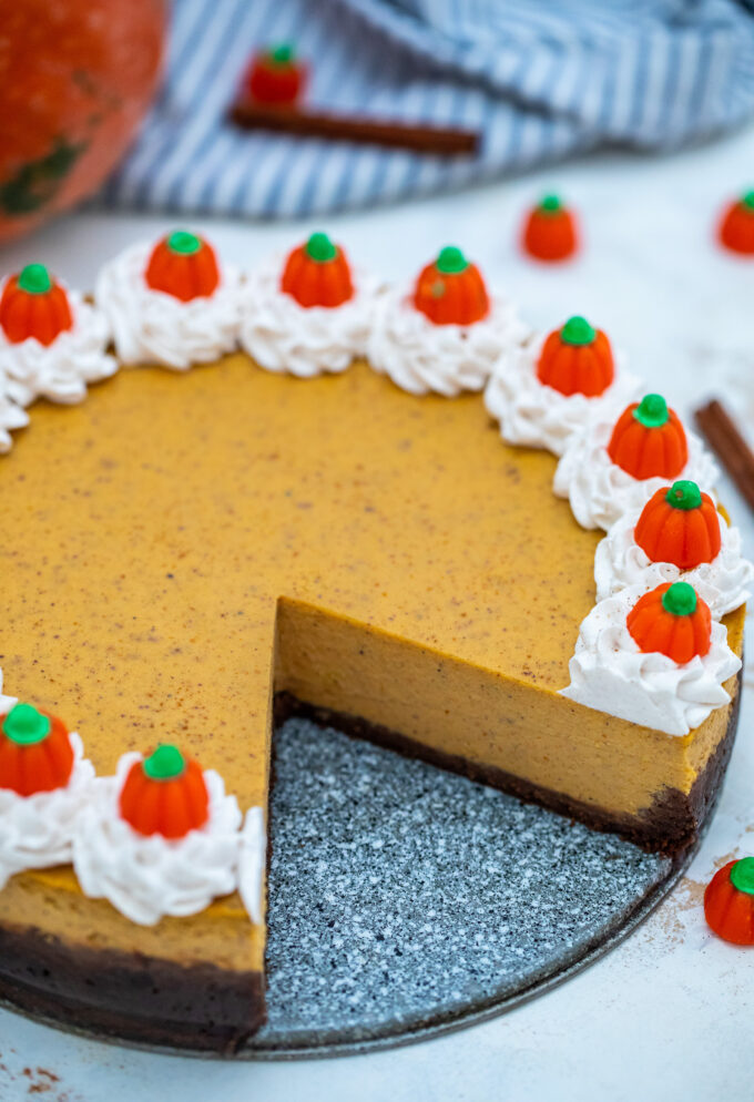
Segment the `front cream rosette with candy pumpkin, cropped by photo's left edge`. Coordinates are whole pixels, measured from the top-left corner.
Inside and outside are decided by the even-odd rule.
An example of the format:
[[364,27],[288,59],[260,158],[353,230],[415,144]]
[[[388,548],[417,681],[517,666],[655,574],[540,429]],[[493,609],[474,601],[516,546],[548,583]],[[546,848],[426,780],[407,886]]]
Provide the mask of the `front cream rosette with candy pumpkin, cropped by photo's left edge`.
[[71,860],[94,768],[60,720],[0,696],[0,888],[30,868]]

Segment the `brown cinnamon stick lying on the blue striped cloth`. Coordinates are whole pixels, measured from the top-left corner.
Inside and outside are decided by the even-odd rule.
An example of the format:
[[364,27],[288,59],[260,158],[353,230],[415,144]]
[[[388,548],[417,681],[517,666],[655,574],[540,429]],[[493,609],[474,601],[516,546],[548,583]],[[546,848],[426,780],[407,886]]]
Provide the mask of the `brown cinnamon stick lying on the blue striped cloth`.
[[472,154],[479,147],[479,134],[472,130],[415,126],[300,108],[268,108],[251,100],[238,100],[231,109],[230,118],[236,126],[244,130],[271,130],[282,134],[300,134],[304,137],[388,145],[440,156]]

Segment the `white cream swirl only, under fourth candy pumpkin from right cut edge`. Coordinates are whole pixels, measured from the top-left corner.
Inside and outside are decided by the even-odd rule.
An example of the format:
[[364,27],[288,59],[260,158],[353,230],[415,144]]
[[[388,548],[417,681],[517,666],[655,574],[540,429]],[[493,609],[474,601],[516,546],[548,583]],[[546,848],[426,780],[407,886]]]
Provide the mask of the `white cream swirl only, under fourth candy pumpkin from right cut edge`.
[[591,420],[617,420],[638,396],[641,380],[626,370],[625,357],[617,353],[615,377],[603,394],[595,398],[562,395],[537,377],[548,336],[539,334],[521,347],[502,351],[485,389],[485,405],[500,424],[506,443],[547,448],[562,456],[574,433]]

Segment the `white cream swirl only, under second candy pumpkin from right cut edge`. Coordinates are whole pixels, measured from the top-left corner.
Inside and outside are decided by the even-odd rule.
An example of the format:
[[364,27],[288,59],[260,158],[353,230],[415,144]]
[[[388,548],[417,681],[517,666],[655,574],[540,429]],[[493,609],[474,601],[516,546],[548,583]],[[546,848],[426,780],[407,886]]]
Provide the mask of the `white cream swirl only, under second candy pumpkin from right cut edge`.
[[635,542],[633,533],[641,512],[641,509],[633,509],[624,513],[597,545],[594,582],[598,601],[632,585],[642,585],[646,591],[664,582],[684,581],[693,585],[706,602],[713,619],[720,620],[748,600],[748,586],[754,582],[754,564],[742,554],[741,532],[728,527],[721,513],[717,513],[719,553],[712,562],[700,563],[693,570],[681,570],[672,562],[651,562]]

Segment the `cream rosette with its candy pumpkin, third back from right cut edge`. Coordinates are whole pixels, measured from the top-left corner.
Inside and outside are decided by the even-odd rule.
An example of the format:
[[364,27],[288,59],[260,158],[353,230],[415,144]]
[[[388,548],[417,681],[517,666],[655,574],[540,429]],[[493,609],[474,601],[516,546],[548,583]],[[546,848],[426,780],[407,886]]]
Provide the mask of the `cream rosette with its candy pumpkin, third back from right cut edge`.
[[628,406],[618,421],[590,421],[558,463],[552,488],[582,528],[602,528],[644,503],[672,479],[713,490],[717,466],[660,395]]

